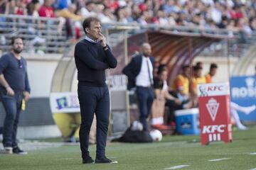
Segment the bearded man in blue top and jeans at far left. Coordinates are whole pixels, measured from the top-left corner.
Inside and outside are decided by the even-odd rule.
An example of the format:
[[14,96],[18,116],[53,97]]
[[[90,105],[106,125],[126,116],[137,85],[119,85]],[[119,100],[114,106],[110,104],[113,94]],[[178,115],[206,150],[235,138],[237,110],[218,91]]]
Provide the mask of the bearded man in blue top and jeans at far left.
[[25,101],[30,96],[26,60],[21,57],[23,40],[15,37],[11,40],[11,52],[0,59],[0,97],[6,111],[4,120],[4,154],[27,154],[18,147],[16,141],[18,119]]

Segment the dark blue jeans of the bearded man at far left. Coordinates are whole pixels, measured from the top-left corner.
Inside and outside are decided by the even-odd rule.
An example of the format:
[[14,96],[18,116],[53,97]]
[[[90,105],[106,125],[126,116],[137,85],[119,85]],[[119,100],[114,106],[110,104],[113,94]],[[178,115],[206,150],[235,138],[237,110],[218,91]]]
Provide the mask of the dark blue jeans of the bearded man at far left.
[[1,95],[1,101],[6,111],[3,130],[4,147],[17,147],[16,142],[18,119],[21,113],[22,92],[15,92],[14,96]]

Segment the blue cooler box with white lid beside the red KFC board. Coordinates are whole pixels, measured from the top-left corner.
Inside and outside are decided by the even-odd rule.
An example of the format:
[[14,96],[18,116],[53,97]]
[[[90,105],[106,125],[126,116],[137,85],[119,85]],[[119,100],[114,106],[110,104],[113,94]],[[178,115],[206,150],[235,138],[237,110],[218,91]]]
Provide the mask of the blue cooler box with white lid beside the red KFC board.
[[175,111],[176,130],[182,135],[200,135],[198,108]]

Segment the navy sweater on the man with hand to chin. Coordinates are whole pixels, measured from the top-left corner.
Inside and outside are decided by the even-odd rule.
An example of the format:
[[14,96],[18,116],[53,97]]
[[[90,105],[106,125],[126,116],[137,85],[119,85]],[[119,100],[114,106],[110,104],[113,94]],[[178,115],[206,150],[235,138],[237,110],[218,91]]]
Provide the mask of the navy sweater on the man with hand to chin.
[[75,45],[75,65],[79,84],[105,86],[105,69],[117,67],[117,60],[110,48],[103,50],[100,42],[81,40]]

